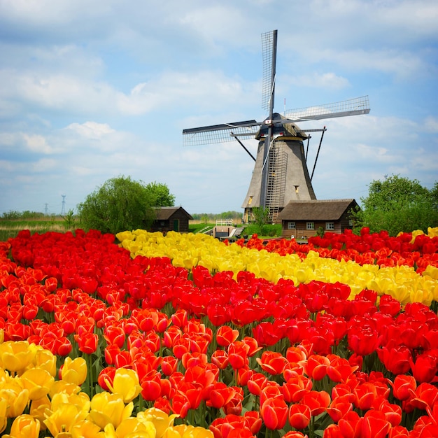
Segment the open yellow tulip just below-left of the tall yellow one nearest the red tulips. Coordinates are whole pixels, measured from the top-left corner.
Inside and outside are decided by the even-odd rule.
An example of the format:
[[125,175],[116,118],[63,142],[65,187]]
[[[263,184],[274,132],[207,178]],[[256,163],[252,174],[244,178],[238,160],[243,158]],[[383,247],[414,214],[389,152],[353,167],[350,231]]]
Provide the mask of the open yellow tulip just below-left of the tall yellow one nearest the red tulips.
[[117,428],[125,418],[131,416],[133,409],[134,403],[130,402],[125,406],[121,395],[105,391],[94,395],[92,398],[90,419],[101,430],[104,430],[108,423]]

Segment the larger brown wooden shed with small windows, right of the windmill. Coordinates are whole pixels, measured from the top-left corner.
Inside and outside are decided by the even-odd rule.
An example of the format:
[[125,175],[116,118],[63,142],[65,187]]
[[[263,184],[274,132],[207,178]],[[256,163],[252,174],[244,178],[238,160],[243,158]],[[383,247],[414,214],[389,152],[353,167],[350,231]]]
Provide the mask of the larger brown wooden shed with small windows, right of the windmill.
[[351,210],[358,208],[355,199],[311,199],[290,201],[278,213],[281,236],[285,239],[308,239],[320,227],[324,232],[341,233],[353,228]]

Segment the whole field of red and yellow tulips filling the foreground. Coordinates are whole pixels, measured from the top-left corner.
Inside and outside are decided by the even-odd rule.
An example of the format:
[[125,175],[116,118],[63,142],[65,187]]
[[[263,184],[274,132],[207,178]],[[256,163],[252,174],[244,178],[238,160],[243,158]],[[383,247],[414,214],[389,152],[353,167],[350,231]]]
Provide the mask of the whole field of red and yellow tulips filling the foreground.
[[0,242],[0,436],[436,438],[438,227]]

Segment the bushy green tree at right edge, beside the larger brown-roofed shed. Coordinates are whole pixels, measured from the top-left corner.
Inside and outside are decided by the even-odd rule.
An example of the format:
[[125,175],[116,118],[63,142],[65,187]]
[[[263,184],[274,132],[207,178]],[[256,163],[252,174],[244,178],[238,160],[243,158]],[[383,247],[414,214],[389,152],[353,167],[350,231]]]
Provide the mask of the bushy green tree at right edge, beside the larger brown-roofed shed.
[[367,197],[360,199],[362,210],[355,213],[359,227],[371,232],[382,229],[391,236],[414,229],[428,231],[438,225],[438,183],[428,190],[417,180],[399,175],[374,180]]

